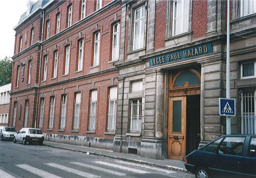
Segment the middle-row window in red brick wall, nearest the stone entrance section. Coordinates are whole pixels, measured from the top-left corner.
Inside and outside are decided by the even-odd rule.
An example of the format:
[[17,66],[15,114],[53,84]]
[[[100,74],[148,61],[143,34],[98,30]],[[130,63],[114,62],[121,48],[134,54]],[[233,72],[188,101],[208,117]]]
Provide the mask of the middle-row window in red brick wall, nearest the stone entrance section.
[[113,26],[112,60],[119,58],[120,23]]

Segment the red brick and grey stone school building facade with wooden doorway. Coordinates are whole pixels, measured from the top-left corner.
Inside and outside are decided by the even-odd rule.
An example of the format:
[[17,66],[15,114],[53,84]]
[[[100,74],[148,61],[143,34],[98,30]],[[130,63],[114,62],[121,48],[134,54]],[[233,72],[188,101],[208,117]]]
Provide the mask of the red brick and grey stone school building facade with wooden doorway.
[[[17,129],[178,160],[226,133],[227,1],[37,1],[28,9],[14,27]],[[232,134],[256,131],[255,19],[254,1],[230,1]]]

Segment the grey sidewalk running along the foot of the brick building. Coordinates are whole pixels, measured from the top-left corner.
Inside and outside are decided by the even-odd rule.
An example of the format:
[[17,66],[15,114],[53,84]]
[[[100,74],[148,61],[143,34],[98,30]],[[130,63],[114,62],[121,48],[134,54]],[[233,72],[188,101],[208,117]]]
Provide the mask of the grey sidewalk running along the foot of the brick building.
[[183,161],[176,161],[171,159],[157,160],[157,159],[150,159],[150,158],[142,158],[141,156],[138,156],[138,155],[117,153],[117,152],[113,152],[105,149],[98,149],[98,148],[78,146],[78,145],[69,145],[69,144],[62,144],[62,143],[49,142],[49,141],[44,141],[43,144],[53,148],[60,148],[60,149],[65,149],[69,151],[77,151],[77,152],[82,152],[90,155],[104,156],[108,158],[119,159],[122,161],[135,162],[138,164],[150,165],[158,168],[190,173],[186,170],[184,166],[185,162]]

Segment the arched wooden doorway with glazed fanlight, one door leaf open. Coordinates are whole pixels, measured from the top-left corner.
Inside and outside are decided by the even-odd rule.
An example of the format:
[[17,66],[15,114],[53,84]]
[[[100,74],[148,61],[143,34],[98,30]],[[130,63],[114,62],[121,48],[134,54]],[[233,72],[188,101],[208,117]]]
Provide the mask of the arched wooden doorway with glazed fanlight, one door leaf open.
[[168,158],[185,160],[200,142],[200,86],[197,70],[170,74],[168,103]]

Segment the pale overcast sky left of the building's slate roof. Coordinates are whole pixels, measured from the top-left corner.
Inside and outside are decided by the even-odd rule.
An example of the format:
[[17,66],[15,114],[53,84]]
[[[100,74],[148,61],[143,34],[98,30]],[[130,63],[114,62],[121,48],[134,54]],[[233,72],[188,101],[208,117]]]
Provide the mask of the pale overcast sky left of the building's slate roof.
[[[37,1],[37,0],[34,0]],[[20,16],[27,10],[27,0],[2,0],[0,5],[0,59],[12,57],[15,27]]]

